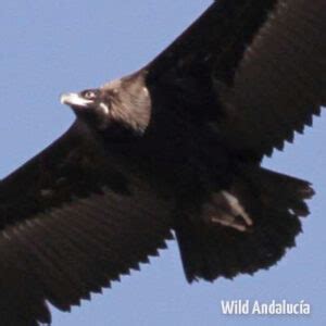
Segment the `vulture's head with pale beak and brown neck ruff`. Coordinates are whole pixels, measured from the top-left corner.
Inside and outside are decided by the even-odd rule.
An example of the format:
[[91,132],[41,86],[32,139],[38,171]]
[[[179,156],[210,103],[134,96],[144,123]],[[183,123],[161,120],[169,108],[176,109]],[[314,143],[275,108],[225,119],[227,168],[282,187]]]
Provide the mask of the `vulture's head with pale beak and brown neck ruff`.
[[61,103],[70,105],[77,118],[99,131],[118,128],[142,134],[149,125],[151,100],[143,78],[131,76],[61,96]]

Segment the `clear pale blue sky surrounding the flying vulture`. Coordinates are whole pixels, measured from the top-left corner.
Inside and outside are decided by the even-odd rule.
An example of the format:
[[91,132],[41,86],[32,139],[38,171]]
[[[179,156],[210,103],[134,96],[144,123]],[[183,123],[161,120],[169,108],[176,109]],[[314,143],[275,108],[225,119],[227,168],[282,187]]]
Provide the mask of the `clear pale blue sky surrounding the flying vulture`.
[[[133,72],[167,46],[210,3],[186,1],[11,0],[0,11],[0,178],[61,135],[73,121],[64,91],[97,87]],[[298,246],[272,267],[235,280],[189,286],[174,241],[141,273],[123,277],[53,326],[326,325],[326,114],[265,165],[313,183],[312,214]],[[311,303],[310,316],[224,316],[223,299]]]

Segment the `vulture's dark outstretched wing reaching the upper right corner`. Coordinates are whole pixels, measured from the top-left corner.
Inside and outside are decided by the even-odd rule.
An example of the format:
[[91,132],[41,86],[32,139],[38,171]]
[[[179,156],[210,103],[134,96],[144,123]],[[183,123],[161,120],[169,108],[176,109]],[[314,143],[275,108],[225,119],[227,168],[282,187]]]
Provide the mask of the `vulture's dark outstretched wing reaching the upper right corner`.
[[215,1],[147,66],[148,84],[183,118],[260,159],[326,104],[325,30],[324,0]]

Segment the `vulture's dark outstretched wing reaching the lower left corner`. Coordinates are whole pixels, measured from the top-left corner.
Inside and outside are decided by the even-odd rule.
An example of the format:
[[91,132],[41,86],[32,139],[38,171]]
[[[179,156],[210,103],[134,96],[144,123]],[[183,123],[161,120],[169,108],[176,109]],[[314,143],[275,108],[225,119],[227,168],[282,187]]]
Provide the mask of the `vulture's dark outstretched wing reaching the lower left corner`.
[[171,237],[167,206],[75,123],[0,183],[0,319],[49,323],[139,268]]

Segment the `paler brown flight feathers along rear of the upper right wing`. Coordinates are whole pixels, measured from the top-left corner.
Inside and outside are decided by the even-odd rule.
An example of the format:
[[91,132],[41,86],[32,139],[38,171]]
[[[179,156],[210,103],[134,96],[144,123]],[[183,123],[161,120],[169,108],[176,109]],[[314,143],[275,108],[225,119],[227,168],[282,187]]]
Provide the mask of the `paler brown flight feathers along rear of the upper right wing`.
[[325,1],[279,1],[222,93],[220,128],[230,147],[271,154],[312,124],[326,104],[325,30]]

